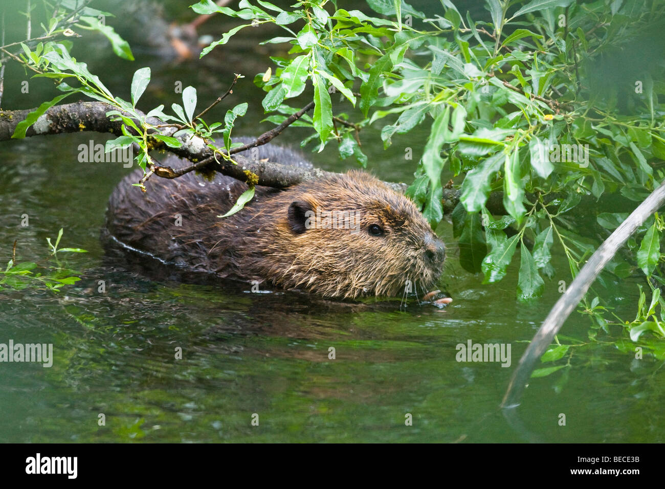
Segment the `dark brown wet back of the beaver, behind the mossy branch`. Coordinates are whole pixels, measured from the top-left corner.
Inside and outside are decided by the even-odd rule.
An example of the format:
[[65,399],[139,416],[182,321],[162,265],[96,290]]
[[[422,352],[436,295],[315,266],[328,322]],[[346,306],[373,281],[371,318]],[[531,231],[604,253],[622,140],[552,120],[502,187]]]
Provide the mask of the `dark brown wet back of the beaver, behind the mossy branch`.
[[[243,143],[251,140],[234,138]],[[250,153],[247,156],[271,162],[303,168],[312,166],[302,154],[274,144],[253,148],[247,153]],[[162,164],[178,168],[188,163],[170,155]],[[218,216],[231,209],[247,190],[247,184],[219,173],[207,180],[190,172],[172,180],[152,176],[145,184],[146,192],[142,192],[132,185],[142,176],[142,170],[137,169],[114,189],[106,210],[106,237],[162,261],[199,271],[217,272],[225,267],[227,263],[211,261],[209,253],[215,247],[215,236],[207,230],[219,225]],[[255,198],[247,207],[259,205],[257,202],[275,192],[279,190],[257,187]],[[227,222],[230,224],[231,220]]]

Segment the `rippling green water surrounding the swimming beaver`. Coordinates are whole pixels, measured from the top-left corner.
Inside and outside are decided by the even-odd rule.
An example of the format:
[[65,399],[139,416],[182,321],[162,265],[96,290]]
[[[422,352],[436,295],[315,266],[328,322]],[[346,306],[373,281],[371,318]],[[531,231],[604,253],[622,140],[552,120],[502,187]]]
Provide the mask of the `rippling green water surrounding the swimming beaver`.
[[[239,133],[257,134],[271,125],[259,124],[260,92],[251,78],[268,60],[264,48],[249,50],[259,39],[251,35],[205,63],[157,63],[148,55],[133,64],[89,61],[121,96],[131,73],[152,65],[144,108],[178,102],[175,81],[196,85],[199,100],[213,100],[243,63],[247,78],[211,118],[249,99]],[[23,79],[19,70],[6,76]],[[45,95],[8,89],[6,97],[3,107],[27,108]],[[373,139],[379,131],[377,125],[362,132],[370,169],[386,180],[410,180],[413,162],[404,160],[404,148],[412,145],[418,158],[428,128],[394,138],[388,151]],[[280,141],[303,134],[287,131]],[[81,133],[0,143],[0,263],[11,257],[14,240],[19,261],[43,259],[45,238],[59,228],[65,228],[61,245],[89,250],[66,257],[82,280],[60,293],[0,291],[0,343],[53,343],[55,357],[51,368],[0,364],[1,442],[664,441],[662,363],[636,361],[611,345],[581,349],[571,368],[533,379],[517,410],[521,427],[501,414],[509,376],[559,297],[559,279],[568,278],[561,257],[545,296],[519,303],[518,265],[501,283],[483,285],[481,275],[460,267],[452,226],[444,221],[438,234],[449,258],[440,285],[454,298],[444,310],[413,300],[400,309],[398,302],[336,303],[151,279],[106,256],[98,239],[106,200],[129,170],[80,164],[77,148],[106,138]],[[312,159],[329,170],[352,166],[332,146]],[[105,292],[98,291],[100,280]],[[618,283],[604,298],[630,311],[636,285]],[[573,313],[562,333],[585,341],[587,327]],[[456,345],[469,339],[511,344],[511,366],[459,363]],[[182,359],[175,359],[178,347]],[[335,359],[329,359],[331,347]],[[561,413],[566,426],[558,424]],[[406,414],[412,426],[405,425]]]

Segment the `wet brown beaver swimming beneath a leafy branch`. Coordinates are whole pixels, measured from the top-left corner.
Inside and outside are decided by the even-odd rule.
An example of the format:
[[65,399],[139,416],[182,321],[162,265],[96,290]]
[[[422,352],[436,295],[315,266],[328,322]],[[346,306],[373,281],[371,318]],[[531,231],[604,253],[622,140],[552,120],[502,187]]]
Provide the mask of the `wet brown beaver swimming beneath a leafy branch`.
[[[311,167],[275,144],[247,153]],[[144,193],[131,185],[141,176],[136,170],[115,188],[106,232],[168,265],[339,299],[402,295],[408,281],[429,289],[442,273],[444,243],[418,208],[366,172],[281,190],[257,186],[245,208],[226,218],[219,216],[247,190],[244,182],[194,172],[153,176]]]

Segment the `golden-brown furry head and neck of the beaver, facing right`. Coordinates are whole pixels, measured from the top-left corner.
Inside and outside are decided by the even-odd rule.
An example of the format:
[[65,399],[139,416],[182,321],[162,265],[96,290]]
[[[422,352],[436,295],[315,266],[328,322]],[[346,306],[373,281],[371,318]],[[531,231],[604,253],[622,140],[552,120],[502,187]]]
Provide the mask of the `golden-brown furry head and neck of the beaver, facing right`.
[[238,214],[238,263],[281,287],[395,296],[409,281],[429,289],[442,273],[444,244],[418,208],[364,172],[304,182]]

